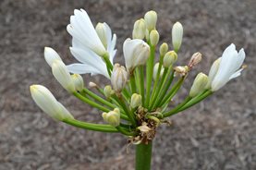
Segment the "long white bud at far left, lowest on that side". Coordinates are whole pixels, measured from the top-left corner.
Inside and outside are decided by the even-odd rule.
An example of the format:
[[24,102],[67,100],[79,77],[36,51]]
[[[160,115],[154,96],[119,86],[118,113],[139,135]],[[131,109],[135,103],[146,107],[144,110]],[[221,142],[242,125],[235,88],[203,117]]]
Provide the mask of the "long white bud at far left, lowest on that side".
[[42,85],[31,85],[30,93],[33,101],[45,112],[55,120],[63,121],[64,119],[74,119],[67,109],[58,103],[55,96],[43,87]]

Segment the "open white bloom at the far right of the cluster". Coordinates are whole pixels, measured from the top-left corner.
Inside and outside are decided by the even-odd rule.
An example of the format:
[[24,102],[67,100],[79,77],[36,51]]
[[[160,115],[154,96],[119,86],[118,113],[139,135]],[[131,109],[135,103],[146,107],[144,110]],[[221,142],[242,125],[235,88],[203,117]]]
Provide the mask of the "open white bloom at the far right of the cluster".
[[242,48],[238,52],[235,44],[230,44],[223,52],[222,57],[219,58],[219,64],[216,62],[214,67],[211,67],[209,80],[212,81],[212,91],[218,91],[225,86],[230,79],[240,76],[241,71],[243,70],[243,68],[240,67],[243,64],[244,59],[244,49]]

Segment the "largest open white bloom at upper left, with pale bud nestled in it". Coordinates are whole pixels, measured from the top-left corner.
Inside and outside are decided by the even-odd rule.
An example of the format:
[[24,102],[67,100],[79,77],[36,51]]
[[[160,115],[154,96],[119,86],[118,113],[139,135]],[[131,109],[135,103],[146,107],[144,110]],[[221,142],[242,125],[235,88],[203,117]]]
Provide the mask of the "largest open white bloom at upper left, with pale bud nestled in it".
[[[96,31],[97,30],[97,31]],[[116,34],[106,23],[99,23],[94,29],[91,19],[83,9],[75,9],[70,17],[67,31],[72,35],[71,54],[80,62],[67,66],[69,72],[77,74],[102,74],[109,79],[103,56],[113,64],[116,55]]]

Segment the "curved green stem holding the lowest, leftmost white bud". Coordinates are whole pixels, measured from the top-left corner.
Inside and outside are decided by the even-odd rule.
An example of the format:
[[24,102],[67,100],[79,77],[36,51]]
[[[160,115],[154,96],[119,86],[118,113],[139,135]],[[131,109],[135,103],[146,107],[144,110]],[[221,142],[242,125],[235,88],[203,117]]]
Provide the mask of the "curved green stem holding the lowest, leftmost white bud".
[[102,132],[111,132],[111,133],[116,133],[118,130],[110,125],[101,125],[101,124],[91,124],[91,123],[86,123],[86,122],[81,122],[76,119],[65,119],[63,122],[72,125],[74,127],[78,128],[86,128],[89,130],[94,130],[94,131],[102,131]]

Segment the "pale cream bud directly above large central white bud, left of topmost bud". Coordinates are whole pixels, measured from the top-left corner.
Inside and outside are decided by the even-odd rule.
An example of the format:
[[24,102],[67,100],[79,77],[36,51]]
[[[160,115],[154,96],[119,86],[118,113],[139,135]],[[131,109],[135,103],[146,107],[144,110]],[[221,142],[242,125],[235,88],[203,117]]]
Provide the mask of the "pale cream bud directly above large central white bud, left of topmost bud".
[[136,20],[132,30],[132,39],[144,39],[146,34],[146,23],[143,18]]

